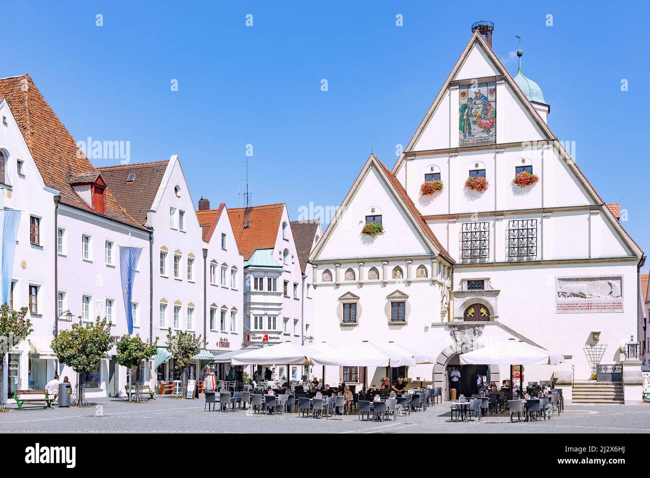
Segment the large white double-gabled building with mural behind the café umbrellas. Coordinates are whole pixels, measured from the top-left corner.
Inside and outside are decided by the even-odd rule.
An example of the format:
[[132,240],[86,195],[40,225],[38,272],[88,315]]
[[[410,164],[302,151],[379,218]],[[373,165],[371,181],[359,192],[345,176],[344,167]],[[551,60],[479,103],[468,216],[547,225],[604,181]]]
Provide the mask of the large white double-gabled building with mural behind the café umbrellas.
[[[571,401],[574,371],[589,380],[596,365],[615,365],[611,379],[625,375],[625,402],[638,403],[640,368],[625,345],[638,339],[643,252],[552,133],[518,53],[513,78],[491,49],[491,25],[478,25],[392,170],[370,156],[309,259],[315,336],[437,354],[393,377],[445,396],[461,352],[523,340],[565,357],[525,367],[524,382],[554,380]],[[520,187],[521,172],[538,181]],[[484,191],[466,186],[485,180]],[[424,195],[424,181],[443,189]],[[361,233],[373,220],[383,232]],[[342,368],[328,367],[326,382],[361,380]],[[476,375],[500,382],[510,367],[467,365],[461,375],[467,393]],[[369,370],[372,384],[385,376]]]

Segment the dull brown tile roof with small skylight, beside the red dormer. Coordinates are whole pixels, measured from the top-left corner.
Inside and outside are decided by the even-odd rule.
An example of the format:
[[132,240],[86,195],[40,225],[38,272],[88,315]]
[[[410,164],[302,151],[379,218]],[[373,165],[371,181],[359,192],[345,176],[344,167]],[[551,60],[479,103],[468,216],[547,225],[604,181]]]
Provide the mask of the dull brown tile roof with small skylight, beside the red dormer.
[[[162,177],[169,161],[136,163],[133,165],[104,166],[97,168],[109,185],[109,189],[127,212],[138,221],[146,224],[147,212],[158,193]],[[134,174],[133,181],[127,181]]]

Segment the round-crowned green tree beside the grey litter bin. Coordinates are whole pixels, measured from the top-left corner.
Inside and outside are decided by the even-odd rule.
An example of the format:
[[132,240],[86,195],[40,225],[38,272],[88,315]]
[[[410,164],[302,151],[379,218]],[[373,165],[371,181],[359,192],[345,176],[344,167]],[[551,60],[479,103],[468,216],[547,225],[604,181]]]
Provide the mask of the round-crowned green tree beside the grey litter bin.
[[99,360],[107,358],[107,352],[115,343],[110,335],[110,322],[99,319],[95,323],[73,324],[70,330],[62,330],[59,337],[52,341],[52,351],[59,362],[69,365],[77,372],[77,405],[88,405],[83,397],[84,374],[93,371]]

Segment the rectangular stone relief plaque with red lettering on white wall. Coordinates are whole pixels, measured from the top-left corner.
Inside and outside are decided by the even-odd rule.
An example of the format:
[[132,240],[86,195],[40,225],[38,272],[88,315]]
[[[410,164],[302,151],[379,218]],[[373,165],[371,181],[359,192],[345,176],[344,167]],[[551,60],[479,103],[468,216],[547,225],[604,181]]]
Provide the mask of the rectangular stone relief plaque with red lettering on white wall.
[[555,312],[623,312],[623,276],[556,277]]

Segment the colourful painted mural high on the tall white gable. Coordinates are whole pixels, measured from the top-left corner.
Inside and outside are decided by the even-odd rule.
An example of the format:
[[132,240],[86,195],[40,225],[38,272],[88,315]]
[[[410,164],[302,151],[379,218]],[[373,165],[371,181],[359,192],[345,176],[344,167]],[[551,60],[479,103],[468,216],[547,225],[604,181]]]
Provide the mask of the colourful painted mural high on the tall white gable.
[[497,142],[497,83],[460,85],[458,137],[460,146]]

